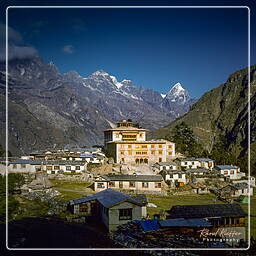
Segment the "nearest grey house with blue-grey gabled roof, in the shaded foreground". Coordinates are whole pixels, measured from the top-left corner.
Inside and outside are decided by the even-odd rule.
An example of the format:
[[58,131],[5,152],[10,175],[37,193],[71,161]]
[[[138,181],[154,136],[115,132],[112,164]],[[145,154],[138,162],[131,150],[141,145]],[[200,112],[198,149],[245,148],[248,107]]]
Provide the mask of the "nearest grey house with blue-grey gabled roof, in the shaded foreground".
[[94,195],[73,199],[69,203],[73,214],[98,216],[109,231],[132,220],[147,216],[146,206],[129,195],[106,189]]

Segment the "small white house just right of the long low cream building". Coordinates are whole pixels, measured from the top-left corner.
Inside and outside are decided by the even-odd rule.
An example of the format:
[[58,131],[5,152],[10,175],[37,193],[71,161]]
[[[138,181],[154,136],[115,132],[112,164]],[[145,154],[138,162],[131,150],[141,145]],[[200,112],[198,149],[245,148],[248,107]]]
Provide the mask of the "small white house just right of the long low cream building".
[[164,181],[169,184],[177,185],[178,187],[184,186],[187,183],[186,173],[181,170],[164,170],[160,174],[163,176]]

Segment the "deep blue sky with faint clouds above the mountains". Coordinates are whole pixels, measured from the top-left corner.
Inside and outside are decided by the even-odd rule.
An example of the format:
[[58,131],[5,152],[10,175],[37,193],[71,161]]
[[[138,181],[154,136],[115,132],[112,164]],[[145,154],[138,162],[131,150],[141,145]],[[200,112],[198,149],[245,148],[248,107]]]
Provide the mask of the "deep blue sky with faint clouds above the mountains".
[[12,57],[37,53],[61,73],[102,69],[160,93],[180,82],[199,98],[248,65],[247,8],[10,8],[8,23]]

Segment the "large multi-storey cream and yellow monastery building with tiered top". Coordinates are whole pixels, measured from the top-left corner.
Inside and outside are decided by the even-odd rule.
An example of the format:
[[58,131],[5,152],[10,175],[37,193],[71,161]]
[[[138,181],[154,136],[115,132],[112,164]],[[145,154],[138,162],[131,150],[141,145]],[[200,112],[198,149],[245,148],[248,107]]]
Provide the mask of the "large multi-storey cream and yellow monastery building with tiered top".
[[167,140],[146,140],[146,129],[123,120],[104,132],[105,148],[116,163],[149,164],[175,157],[175,144]]

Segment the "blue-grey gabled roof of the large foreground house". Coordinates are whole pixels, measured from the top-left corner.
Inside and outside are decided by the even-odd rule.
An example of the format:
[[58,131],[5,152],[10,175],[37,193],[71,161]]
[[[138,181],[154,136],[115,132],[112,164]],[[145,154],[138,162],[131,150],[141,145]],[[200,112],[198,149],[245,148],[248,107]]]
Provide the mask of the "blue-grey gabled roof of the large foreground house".
[[107,208],[113,205],[116,205],[118,203],[121,203],[123,201],[129,201],[133,204],[142,206],[140,202],[136,201],[134,198],[130,197],[129,195],[123,194],[111,188],[105,189],[94,195],[70,200],[70,204],[71,205],[81,204],[81,203],[89,202],[92,200],[97,200],[100,204],[102,204],[104,207],[107,207]]

